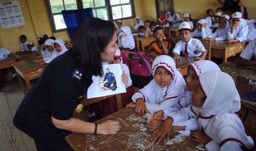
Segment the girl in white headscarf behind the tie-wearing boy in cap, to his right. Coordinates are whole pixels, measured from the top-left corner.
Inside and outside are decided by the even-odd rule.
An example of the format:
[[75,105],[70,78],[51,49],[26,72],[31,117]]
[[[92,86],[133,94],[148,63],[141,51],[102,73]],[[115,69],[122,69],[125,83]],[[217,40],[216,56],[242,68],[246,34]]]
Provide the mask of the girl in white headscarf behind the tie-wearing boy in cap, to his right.
[[208,26],[208,21],[206,19],[200,19],[197,22],[197,29],[192,33],[193,38],[205,39],[211,35],[211,29]]

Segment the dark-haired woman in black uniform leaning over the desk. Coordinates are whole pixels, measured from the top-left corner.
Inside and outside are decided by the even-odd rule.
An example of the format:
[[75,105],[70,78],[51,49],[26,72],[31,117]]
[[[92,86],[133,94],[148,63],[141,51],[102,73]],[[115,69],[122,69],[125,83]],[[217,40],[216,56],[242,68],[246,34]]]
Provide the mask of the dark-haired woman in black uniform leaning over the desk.
[[37,150],[72,150],[65,141],[71,132],[115,134],[121,129],[118,121],[94,124],[72,117],[92,75],[102,75],[102,61],[113,60],[118,48],[116,35],[113,22],[86,19],[72,49],[49,63],[26,94],[13,123],[34,138]]

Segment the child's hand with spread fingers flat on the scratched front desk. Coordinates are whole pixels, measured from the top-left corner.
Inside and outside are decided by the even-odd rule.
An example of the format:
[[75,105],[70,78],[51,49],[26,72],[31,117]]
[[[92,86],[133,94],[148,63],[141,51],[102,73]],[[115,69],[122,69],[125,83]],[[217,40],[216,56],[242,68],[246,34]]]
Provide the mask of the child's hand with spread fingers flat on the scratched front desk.
[[156,144],[159,144],[162,141],[162,138],[166,134],[167,134],[166,140],[170,141],[172,123],[173,123],[173,118],[168,117],[167,119],[165,119],[164,122],[160,125],[160,127],[153,132],[151,142],[152,143],[156,142]]

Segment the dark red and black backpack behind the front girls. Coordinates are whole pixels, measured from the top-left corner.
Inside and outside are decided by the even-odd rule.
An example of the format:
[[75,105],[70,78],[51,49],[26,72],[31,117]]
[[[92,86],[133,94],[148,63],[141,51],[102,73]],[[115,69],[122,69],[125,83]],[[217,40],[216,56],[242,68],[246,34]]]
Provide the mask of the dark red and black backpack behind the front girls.
[[130,59],[130,67],[130,78],[132,78],[134,86],[143,88],[153,79],[151,62],[144,53],[134,54]]

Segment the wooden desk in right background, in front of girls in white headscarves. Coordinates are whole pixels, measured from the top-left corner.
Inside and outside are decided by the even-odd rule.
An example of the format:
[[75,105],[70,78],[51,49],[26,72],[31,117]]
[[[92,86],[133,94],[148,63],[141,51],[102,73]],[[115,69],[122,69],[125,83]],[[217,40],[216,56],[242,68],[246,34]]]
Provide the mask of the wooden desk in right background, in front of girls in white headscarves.
[[227,41],[217,41],[211,43],[211,57],[222,59],[227,62],[227,58],[242,52],[243,43],[228,43]]

